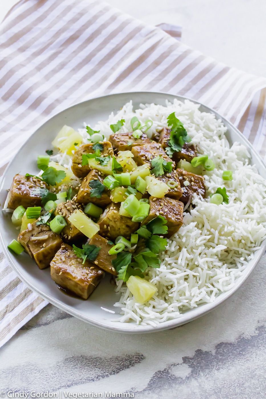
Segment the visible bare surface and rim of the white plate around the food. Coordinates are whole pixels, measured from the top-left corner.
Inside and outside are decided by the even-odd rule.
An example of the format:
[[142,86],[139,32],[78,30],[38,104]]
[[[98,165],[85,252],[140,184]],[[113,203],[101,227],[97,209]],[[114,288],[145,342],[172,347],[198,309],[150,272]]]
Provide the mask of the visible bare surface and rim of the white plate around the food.
[[[139,107],[140,103],[165,105],[165,100],[172,102],[175,98],[181,101],[185,100],[185,97],[163,93],[121,93],[85,101],[62,111],[58,115],[55,115],[52,119],[48,120],[38,130],[36,130],[22,148],[20,148],[14,159],[6,168],[0,188],[1,205],[4,204],[7,194],[6,189],[10,188],[10,184],[16,173],[37,173],[37,156],[43,154],[46,149],[51,148],[51,142],[54,139],[54,136],[59,132],[64,124],[67,124],[74,129],[83,127],[83,122],[90,123],[91,126],[94,126],[94,124],[99,120],[106,120],[112,111],[116,113],[116,111],[123,107],[123,105],[129,100],[133,101],[133,105],[136,109]],[[197,103],[196,101],[194,102]],[[218,119],[222,119],[224,125],[228,129],[226,137],[230,144],[235,141],[244,144],[251,154],[251,163],[255,164],[259,174],[266,178],[266,166],[248,140],[246,140],[246,138],[230,122],[228,122],[228,120],[218,115],[212,109],[200,105],[200,111],[214,113]],[[64,292],[59,290],[51,279],[50,268],[40,270],[36,266],[36,263],[26,253],[22,253],[20,256],[14,256],[8,251],[8,243],[10,243],[12,239],[16,238],[17,235],[18,231],[11,223],[11,214],[0,212],[0,240],[2,248],[14,270],[25,284],[38,292],[42,298],[47,299],[55,306],[58,306],[58,308],[65,310],[67,313],[72,314],[85,322],[107,330],[136,334],[177,327],[216,308],[216,306],[229,298],[229,296],[238,289],[244,280],[247,279],[264,253],[266,247],[266,242],[264,241],[261,249],[256,251],[254,259],[250,261],[242,277],[236,281],[234,288],[229,292],[220,294],[216,298],[215,302],[200,305],[198,308],[187,311],[180,318],[163,322],[156,327],[152,327],[137,326],[133,322],[120,323],[113,321],[118,319],[120,316],[119,308],[113,307],[113,304],[119,300],[119,296],[115,294],[114,286],[109,282],[109,276],[105,276],[105,279],[101,281],[99,286],[97,286],[93,294],[91,294],[89,299],[86,301],[64,294]],[[105,309],[111,310],[115,313],[107,312]]]

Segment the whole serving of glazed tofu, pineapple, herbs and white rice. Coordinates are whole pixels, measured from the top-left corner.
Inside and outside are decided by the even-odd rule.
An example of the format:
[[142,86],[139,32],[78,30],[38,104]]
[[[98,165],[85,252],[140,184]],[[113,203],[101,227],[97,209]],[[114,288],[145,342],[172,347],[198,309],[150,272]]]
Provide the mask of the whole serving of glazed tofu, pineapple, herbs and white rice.
[[120,322],[156,326],[213,302],[266,237],[266,181],[225,132],[188,100],[63,126],[39,172],[14,176],[8,248],[83,300],[109,273]]

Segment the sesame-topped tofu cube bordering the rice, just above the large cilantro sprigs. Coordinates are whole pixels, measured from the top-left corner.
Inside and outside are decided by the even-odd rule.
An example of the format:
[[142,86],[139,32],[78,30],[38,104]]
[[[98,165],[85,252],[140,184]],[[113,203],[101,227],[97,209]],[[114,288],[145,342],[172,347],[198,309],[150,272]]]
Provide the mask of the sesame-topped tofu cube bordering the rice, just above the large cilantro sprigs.
[[168,233],[166,237],[170,238],[183,225],[183,202],[172,198],[157,198],[150,197],[150,211],[148,217],[141,223],[147,224],[155,217],[161,215],[167,220]]

